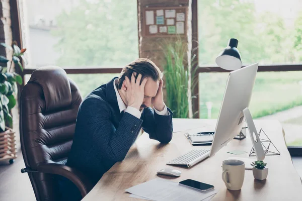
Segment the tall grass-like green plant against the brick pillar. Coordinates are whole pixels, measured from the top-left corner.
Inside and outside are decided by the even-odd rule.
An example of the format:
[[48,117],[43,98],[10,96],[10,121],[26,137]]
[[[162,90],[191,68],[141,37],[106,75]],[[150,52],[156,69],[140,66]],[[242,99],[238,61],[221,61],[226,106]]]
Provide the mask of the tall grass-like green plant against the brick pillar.
[[194,76],[197,68],[191,71],[191,67],[196,65],[196,55],[193,54],[189,58],[190,62],[185,60],[188,45],[179,36],[174,41],[164,41],[161,46],[165,58],[163,74],[166,79],[166,104],[173,111],[174,118],[192,118],[195,114],[192,111],[191,102],[194,96],[191,93],[197,84],[198,76]]

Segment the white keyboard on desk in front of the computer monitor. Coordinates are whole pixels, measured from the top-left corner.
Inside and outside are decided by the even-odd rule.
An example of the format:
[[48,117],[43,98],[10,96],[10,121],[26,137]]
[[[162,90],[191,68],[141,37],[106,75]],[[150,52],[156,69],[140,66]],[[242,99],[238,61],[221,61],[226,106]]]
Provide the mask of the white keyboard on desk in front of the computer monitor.
[[209,156],[208,149],[192,149],[191,151],[179,156],[167,163],[167,165],[187,165],[192,167]]

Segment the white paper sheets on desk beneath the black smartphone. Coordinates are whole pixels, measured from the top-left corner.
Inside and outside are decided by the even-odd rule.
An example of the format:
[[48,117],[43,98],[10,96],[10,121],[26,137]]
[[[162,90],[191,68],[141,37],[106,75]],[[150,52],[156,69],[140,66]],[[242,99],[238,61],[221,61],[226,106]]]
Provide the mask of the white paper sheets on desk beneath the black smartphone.
[[208,192],[200,192],[162,178],[146,181],[125,190],[132,194],[157,201],[197,201],[203,200],[217,192],[215,189]]

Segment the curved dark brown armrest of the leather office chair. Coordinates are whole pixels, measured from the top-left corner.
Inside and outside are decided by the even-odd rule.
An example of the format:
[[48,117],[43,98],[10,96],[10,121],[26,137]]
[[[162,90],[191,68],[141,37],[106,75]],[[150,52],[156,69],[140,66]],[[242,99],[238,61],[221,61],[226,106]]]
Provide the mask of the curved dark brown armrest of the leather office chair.
[[93,188],[92,182],[79,170],[71,168],[67,165],[61,165],[57,163],[45,163],[40,164],[37,167],[39,172],[58,174],[68,178],[74,183],[80,190],[82,197]]

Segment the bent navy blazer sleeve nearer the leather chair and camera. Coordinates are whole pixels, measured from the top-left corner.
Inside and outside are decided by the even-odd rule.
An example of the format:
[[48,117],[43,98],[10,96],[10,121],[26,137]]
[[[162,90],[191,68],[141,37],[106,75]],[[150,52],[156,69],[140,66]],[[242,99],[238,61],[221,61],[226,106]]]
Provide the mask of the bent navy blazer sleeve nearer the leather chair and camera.
[[91,146],[97,146],[107,159],[122,161],[137,137],[142,120],[129,113],[124,113],[117,128],[110,120],[108,103],[103,99],[91,97],[86,99],[78,117],[87,129]]

